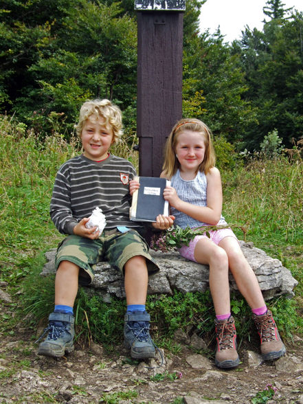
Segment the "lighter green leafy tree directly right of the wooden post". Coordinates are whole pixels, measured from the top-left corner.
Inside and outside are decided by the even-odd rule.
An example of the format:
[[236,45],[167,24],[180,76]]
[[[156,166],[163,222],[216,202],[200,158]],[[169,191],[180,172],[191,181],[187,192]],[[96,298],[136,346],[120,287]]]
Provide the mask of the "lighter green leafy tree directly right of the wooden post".
[[183,65],[183,115],[198,117],[229,142],[242,139],[254,111],[242,98],[247,85],[238,55],[220,30],[185,37]]

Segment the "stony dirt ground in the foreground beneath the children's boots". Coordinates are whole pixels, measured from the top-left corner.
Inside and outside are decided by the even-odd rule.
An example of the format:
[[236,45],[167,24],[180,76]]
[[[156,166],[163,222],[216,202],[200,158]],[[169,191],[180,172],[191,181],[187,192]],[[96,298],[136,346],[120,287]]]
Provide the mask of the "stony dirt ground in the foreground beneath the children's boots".
[[[34,337],[21,329],[0,335],[0,403],[303,403],[302,366],[294,366],[303,363],[298,337],[282,369],[278,362],[251,364],[248,353],[256,348],[246,346],[234,370],[218,370],[212,357],[193,368],[195,352],[185,345],[178,355],[165,351],[161,367],[159,356],[134,363],[122,346],[111,355],[91,344],[60,359],[40,357]],[[267,385],[276,390],[271,399]]]

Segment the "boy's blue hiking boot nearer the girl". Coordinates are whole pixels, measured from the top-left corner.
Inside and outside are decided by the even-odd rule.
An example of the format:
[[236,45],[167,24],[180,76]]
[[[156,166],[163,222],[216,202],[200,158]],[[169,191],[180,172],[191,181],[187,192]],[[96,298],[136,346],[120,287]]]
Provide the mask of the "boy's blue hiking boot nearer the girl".
[[155,357],[149,322],[150,315],[146,311],[134,311],[124,316],[124,344],[126,348],[131,348],[131,357],[134,359]]

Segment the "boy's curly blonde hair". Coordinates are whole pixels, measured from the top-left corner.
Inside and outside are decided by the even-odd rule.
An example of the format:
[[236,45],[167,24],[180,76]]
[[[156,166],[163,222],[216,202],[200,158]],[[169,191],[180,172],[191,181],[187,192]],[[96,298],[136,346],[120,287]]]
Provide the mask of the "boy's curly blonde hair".
[[122,112],[120,108],[109,100],[88,100],[82,104],[79,115],[79,122],[75,125],[76,133],[81,139],[82,128],[91,116],[104,119],[106,128],[109,126],[113,130],[113,143],[120,141],[122,131]]

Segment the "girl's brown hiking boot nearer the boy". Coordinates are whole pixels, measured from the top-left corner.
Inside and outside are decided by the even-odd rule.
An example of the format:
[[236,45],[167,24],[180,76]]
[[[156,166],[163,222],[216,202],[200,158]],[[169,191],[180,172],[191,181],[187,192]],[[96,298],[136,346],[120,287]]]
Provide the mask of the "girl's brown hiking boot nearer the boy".
[[234,318],[230,316],[224,320],[214,320],[216,326],[216,356],[218,368],[236,368],[240,363],[236,351],[236,326]]

